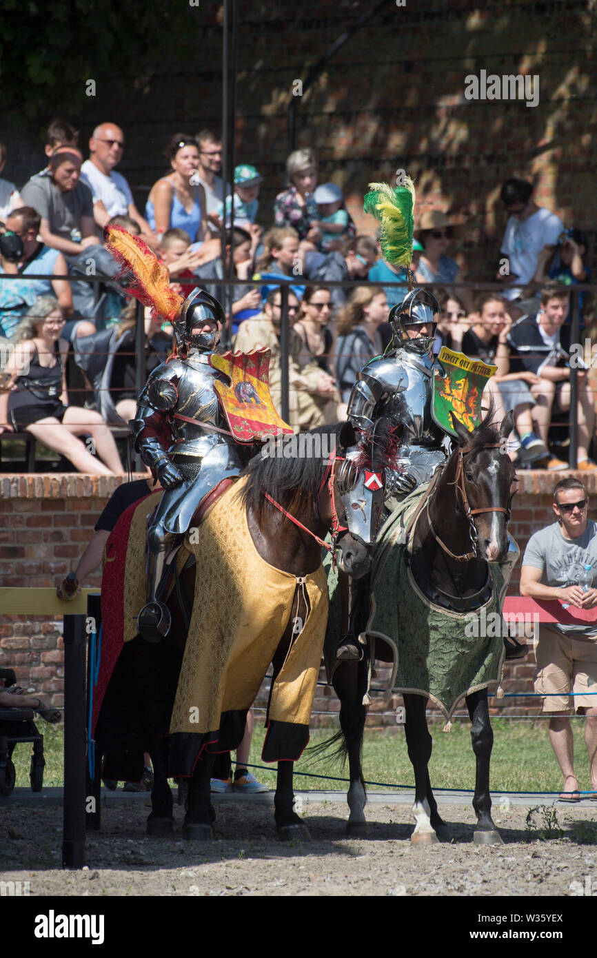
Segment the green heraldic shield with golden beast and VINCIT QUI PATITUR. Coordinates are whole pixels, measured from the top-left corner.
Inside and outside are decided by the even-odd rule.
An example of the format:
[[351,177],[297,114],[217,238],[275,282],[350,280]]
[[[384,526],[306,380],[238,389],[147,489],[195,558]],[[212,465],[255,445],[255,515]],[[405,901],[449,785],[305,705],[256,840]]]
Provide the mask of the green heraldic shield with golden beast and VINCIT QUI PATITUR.
[[[497,366],[469,359],[464,353],[453,353],[443,346],[438,360],[445,376],[435,374],[431,415],[444,432],[456,437],[449,414],[453,413],[472,432],[483,419],[481,397],[485,384]],[[456,437],[457,438],[457,437]]]

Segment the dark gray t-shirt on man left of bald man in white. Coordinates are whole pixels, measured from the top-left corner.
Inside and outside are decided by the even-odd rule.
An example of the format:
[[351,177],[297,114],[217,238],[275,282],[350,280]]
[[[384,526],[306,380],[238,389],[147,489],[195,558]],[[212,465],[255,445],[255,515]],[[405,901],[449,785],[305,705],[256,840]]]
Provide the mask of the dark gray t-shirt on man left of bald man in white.
[[42,219],[47,219],[50,230],[62,239],[79,242],[80,217],[93,219],[93,197],[84,183],[77,183],[74,190],[62,193],[52,177],[45,171],[36,173],[21,190],[26,206],[33,206]]

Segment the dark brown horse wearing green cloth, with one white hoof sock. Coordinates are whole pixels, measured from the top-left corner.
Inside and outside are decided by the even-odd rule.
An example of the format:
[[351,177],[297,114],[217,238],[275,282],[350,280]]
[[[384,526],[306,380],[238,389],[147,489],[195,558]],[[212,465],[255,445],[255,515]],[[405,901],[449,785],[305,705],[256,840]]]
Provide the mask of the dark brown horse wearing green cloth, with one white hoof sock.
[[[419,589],[452,611],[462,612],[463,629],[467,610],[487,601],[488,560],[501,563],[507,556],[512,484],[515,468],[506,454],[505,440],[513,428],[509,413],[499,430],[489,424],[490,416],[472,433],[454,420],[458,446],[448,460],[421,510],[410,543],[410,567]],[[395,547],[396,548],[396,547]],[[380,582],[401,603],[395,582]],[[491,594],[491,593],[490,593]],[[361,618],[362,626],[362,618]],[[379,641],[379,640],[378,640]],[[408,641],[407,636],[402,641]],[[499,639],[501,642],[501,639]],[[429,670],[433,663],[427,663]],[[365,833],[365,789],[361,772],[361,750],[366,708],[364,663],[342,663],[333,676],[341,702],[340,726],[344,752],[350,764],[351,785],[348,803],[351,814],[348,831]],[[429,735],[426,698],[404,694],[406,744],[415,772],[415,843],[448,838],[448,827],[439,815],[429,782],[428,763],[432,740]],[[474,840],[501,841],[492,819],[489,773],[494,741],[489,717],[487,688],[466,696],[471,717],[471,741],[476,758],[473,808],[477,816]],[[337,741],[338,736],[333,741]]]

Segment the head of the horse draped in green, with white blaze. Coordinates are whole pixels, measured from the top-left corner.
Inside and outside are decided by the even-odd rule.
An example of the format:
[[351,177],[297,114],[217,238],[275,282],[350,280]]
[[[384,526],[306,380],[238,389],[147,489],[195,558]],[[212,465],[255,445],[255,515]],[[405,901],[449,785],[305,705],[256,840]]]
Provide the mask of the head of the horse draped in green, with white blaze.
[[[490,420],[469,432],[452,414],[458,437],[454,486],[457,510],[471,523],[473,552],[479,559],[502,562],[508,553],[507,527],[516,469],[507,452],[506,440],[514,427],[512,411],[506,413],[499,429]],[[449,469],[451,473],[451,469]]]

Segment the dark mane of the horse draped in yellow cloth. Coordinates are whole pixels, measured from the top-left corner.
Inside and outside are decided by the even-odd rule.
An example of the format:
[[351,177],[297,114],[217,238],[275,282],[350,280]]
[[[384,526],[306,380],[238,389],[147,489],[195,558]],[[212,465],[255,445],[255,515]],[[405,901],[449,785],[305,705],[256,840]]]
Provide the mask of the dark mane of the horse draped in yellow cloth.
[[[295,500],[306,499],[315,508],[329,453],[337,445],[341,426],[318,426],[264,446],[241,472],[241,478],[246,479],[242,490],[245,509],[261,514],[265,493],[284,509],[289,509]],[[324,436],[330,436],[331,442],[323,441]],[[318,443],[316,437],[322,437]],[[308,450],[310,454],[306,455]]]

